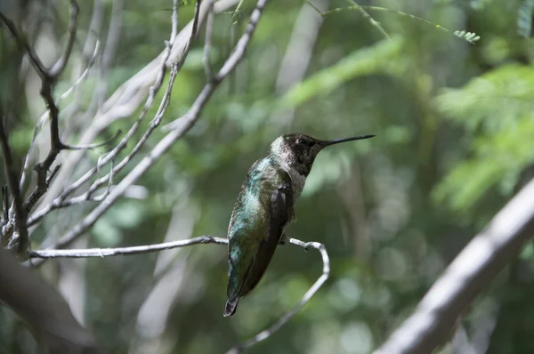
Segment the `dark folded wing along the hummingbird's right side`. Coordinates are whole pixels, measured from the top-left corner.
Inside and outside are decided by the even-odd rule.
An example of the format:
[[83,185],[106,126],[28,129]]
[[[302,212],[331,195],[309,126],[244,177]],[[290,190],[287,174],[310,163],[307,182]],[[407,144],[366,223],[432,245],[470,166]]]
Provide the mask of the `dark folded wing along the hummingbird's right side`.
[[284,173],[284,179],[279,184],[278,189],[275,189],[271,195],[270,207],[270,228],[269,237],[264,240],[255,254],[247,276],[245,277],[245,284],[241,288],[240,296],[245,296],[254,290],[255,286],[260,282],[267,270],[267,266],[271,261],[272,255],[279,245],[280,237],[284,231],[287,222],[291,220],[293,211],[293,188],[291,185],[291,178],[287,173]]

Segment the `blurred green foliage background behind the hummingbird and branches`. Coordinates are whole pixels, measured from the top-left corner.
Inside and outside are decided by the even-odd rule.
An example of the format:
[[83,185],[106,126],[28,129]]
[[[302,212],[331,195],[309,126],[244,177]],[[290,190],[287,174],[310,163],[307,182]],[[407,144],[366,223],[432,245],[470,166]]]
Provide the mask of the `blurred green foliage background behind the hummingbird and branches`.
[[[44,63],[53,63],[65,41],[69,3],[21,3],[7,2],[0,9],[24,24]],[[287,326],[251,353],[375,349],[534,174],[534,2],[359,2],[392,10],[367,9],[374,20],[347,8],[350,1],[311,3],[267,5],[246,59],[219,87],[198,124],[74,245],[225,237],[248,167],[277,136],[376,134],[317,158],[287,234],[325,244],[331,277]],[[165,48],[172,5],[171,0],[80,2],[77,42],[56,96],[76,81],[93,53],[84,44],[94,36],[87,28],[93,7],[99,6],[103,54],[77,93],[60,103],[61,112],[76,104],[77,114],[61,120],[68,141],[76,142],[99,104]],[[229,55],[254,5],[247,0],[239,12],[215,16],[214,68]],[[193,11],[192,1],[180,5],[179,28]],[[467,39],[473,36],[455,35],[456,30],[480,39],[472,43]],[[206,81],[203,34],[204,28],[176,77],[164,123],[186,112]],[[38,77],[27,62],[19,69],[20,52],[4,28],[0,51],[0,92],[16,112],[9,120],[10,142],[21,168],[44,103]],[[143,127],[156,109],[150,109]],[[127,131],[140,112],[106,125],[97,140],[109,139],[117,129]],[[34,163],[47,151],[46,131],[41,135],[37,152],[42,152]],[[142,153],[164,135],[158,129]],[[77,165],[69,181],[104,152],[85,152],[85,165]],[[32,248],[61,237],[93,207],[86,203],[49,214],[31,229]],[[528,245],[465,313],[443,352],[534,351],[533,257],[534,247]],[[109,353],[222,353],[298,302],[320,276],[322,263],[313,250],[280,246],[262,283],[239,302],[233,318],[223,318],[224,245],[52,260],[42,270]],[[35,352],[31,334],[5,308],[0,308],[0,351]]]

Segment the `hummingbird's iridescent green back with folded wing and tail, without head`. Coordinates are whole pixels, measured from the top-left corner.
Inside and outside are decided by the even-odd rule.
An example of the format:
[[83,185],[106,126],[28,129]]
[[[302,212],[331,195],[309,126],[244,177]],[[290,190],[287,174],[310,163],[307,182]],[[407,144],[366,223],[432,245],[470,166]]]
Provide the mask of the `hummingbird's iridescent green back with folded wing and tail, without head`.
[[[229,301],[234,299],[236,306],[239,297],[250,293],[263,277],[283,229],[291,220],[292,200],[288,208],[283,205],[276,210],[277,215],[271,215],[271,199],[280,186],[291,188],[289,174],[277,161],[264,157],[252,165],[239,192],[228,229],[230,270],[227,297]],[[292,199],[292,196],[288,198]],[[225,310],[227,316],[235,311],[232,304],[230,301],[230,309]]]

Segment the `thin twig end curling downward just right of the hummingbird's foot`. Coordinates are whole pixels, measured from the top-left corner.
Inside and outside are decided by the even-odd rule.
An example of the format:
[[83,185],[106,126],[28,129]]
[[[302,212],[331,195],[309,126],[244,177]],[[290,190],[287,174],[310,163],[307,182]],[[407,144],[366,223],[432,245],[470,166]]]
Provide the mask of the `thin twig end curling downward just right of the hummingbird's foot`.
[[295,307],[282,315],[282,317],[280,317],[274,325],[263,330],[259,334],[256,334],[253,338],[250,338],[246,342],[242,342],[241,344],[233,347],[231,350],[228,350],[226,354],[240,353],[241,351],[252,347],[256,343],[262,342],[269,338],[272,334],[277,332],[281,326],[284,326],[291,318],[293,318],[295,314],[301,310],[303,306],[310,301],[310,299],[312,299],[312,296],[317,293],[320,287],[323,286],[323,284],[325,284],[325,282],[328,280],[330,275],[330,259],[328,257],[328,252],[325,245],[320,244],[319,242],[303,242],[295,238],[289,238],[289,243],[303,247],[303,249],[306,251],[311,247],[320,252],[323,261],[323,270],[320,278],[315,281],[310,289],[308,289],[306,294],[303,295],[302,299],[295,305]]

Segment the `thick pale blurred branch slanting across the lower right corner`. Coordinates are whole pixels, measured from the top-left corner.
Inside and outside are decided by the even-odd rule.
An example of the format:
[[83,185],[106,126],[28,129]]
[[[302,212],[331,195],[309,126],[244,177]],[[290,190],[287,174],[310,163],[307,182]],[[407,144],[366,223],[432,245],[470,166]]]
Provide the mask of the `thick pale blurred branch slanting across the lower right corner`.
[[375,354],[430,353],[446,342],[461,313],[534,235],[534,180],[465,246],[415,312]]

